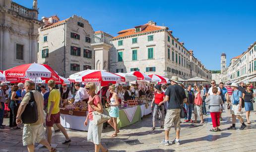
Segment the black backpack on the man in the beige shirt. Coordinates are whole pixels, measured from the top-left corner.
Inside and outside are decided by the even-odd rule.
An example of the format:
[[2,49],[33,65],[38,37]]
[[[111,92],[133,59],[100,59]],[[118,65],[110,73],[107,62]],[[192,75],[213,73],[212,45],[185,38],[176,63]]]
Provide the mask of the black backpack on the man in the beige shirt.
[[29,93],[30,101],[26,105],[24,112],[21,114],[21,120],[24,124],[35,123],[38,120],[37,103],[35,101],[33,92],[30,91]]

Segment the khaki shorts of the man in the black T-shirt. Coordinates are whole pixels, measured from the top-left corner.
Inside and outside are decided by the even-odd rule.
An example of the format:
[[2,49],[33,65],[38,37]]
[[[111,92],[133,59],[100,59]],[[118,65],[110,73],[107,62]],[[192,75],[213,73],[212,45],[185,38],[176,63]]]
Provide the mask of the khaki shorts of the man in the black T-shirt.
[[175,130],[181,130],[181,109],[167,109],[164,120],[164,130],[170,131],[172,124]]

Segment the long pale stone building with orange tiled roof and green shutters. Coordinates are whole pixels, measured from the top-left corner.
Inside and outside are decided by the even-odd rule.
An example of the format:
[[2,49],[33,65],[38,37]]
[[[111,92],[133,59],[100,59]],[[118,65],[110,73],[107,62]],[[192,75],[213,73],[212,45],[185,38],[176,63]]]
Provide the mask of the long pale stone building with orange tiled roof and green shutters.
[[141,71],[168,78],[178,76],[189,79],[195,76],[208,81],[211,72],[188,51],[183,42],[175,38],[172,31],[155,22],[138,25],[118,32],[112,39],[110,49],[110,71]]

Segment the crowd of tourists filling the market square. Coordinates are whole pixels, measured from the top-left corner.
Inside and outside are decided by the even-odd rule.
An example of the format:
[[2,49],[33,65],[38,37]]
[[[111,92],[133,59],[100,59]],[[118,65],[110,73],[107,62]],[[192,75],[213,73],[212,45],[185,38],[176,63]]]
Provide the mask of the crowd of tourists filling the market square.
[[[0,84],[0,129],[4,129],[3,115],[5,95],[8,95],[8,107],[10,108],[9,127],[12,129],[20,129],[22,124],[22,113],[26,110],[26,106],[30,101],[36,101],[38,119],[30,124],[24,124],[23,127],[23,145],[27,146],[29,152],[34,152],[34,144],[41,143],[50,152],[56,152],[51,147],[52,127],[56,132],[61,131],[65,137],[63,144],[71,142],[65,128],[60,122],[60,104],[64,104],[64,100],[71,99],[71,89],[63,84],[58,90],[54,80],[48,81],[48,86],[40,86],[35,89],[33,81],[26,81],[25,84],[19,83],[7,88],[7,84]],[[104,124],[88,123],[93,122],[93,111],[103,112],[105,106],[109,106],[109,116],[111,117],[107,123],[114,128],[111,136],[115,138],[120,132],[118,129],[117,118],[119,117],[119,106],[121,101],[127,101],[141,96],[152,97],[152,128],[155,130],[157,121],[159,120],[160,128],[165,130],[165,138],[160,142],[161,145],[177,144],[180,145],[181,130],[181,110],[183,106],[186,109],[187,117],[184,123],[204,124],[204,115],[210,114],[212,119],[212,129],[210,131],[221,131],[220,121],[222,121],[221,113],[223,110],[230,109],[232,116],[232,125],[228,130],[236,129],[236,118],[241,122],[240,129],[247,127],[242,115],[242,108],[245,107],[247,124],[251,124],[250,111],[254,110],[253,103],[255,99],[254,91],[251,84],[240,82],[236,83],[216,84],[211,81],[208,85],[184,85],[178,81],[178,77],[173,76],[170,83],[166,85],[147,85],[134,84],[132,86],[113,85],[102,87],[101,91],[96,94],[95,83],[87,83],[85,87],[75,83],[76,94],[74,103],[80,101],[88,103],[88,115],[84,125],[89,124],[87,140],[95,145],[95,152],[107,152],[108,150],[101,145],[101,132]],[[46,89],[49,88],[49,89]],[[39,92],[40,90],[40,92]],[[49,90],[49,91],[48,91]],[[100,95],[100,96],[99,96]],[[103,98],[107,99],[105,105]],[[206,111],[206,103],[208,104],[209,113]],[[227,105],[227,107],[226,107]],[[192,119],[192,114],[194,115]],[[199,122],[197,121],[199,118]],[[176,137],[169,141],[169,132],[174,126]],[[47,140],[45,139],[44,127],[47,130]]]

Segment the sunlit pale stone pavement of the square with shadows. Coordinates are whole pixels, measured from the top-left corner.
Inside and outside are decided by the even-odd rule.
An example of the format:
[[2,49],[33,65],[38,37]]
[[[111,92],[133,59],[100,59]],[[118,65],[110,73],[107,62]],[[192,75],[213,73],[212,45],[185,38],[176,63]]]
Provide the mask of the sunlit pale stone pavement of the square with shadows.
[[[256,106],[256,104],[255,104]],[[164,139],[164,130],[160,125],[156,130],[151,131],[151,116],[143,117],[141,122],[122,128],[118,137],[112,138],[112,128],[103,130],[102,144],[111,152],[256,152],[256,111],[251,113],[252,124],[245,130],[239,130],[240,123],[237,120],[237,130],[227,130],[231,124],[230,112],[223,113],[221,121],[221,132],[210,132],[212,127],[210,115],[204,116],[206,123],[200,126],[198,124],[182,123],[181,127],[181,145],[161,146],[159,141]],[[243,113],[245,118],[245,112]],[[184,120],[182,120],[183,122]],[[4,119],[7,124],[8,119]],[[8,124],[7,124],[8,125]],[[69,145],[62,145],[64,136],[62,133],[53,133],[52,146],[59,152],[94,152],[94,145],[87,142],[87,132],[67,129],[72,140]],[[170,139],[175,138],[174,129],[170,131]],[[138,140],[139,144],[129,146],[125,141]],[[47,149],[40,148],[41,145],[35,145],[37,152],[46,152]],[[25,152],[27,149],[22,145],[22,130],[6,129],[0,130],[0,151],[1,152]]]

